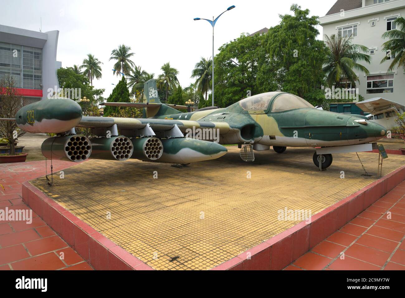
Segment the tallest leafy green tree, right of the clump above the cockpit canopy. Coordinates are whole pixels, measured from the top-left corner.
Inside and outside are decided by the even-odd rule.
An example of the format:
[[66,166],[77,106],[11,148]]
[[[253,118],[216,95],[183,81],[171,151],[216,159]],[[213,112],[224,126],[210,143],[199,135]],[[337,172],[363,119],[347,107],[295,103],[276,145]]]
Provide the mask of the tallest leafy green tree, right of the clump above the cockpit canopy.
[[[319,31],[318,17],[309,17],[309,10],[293,4],[294,15],[280,15],[279,25],[270,28],[264,44],[271,62],[264,62],[260,76],[272,72],[270,80],[275,79],[279,89],[296,94],[302,98],[324,83],[322,65],[328,50],[322,40],[317,40]],[[275,75],[276,74],[276,75]],[[272,78],[274,77],[274,78]]]

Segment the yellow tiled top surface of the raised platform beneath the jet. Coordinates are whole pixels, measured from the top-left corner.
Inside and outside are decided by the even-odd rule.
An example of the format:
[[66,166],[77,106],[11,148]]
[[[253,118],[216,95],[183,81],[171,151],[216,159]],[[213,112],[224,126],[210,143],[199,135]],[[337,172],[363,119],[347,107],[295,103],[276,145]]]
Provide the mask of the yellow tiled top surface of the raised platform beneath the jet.
[[[365,177],[356,153],[333,155],[320,172],[313,149],[255,151],[254,162],[243,162],[237,147],[228,151],[181,169],[90,160],[64,179],[55,173],[52,187],[45,177],[31,183],[155,269],[210,269],[298,223],[277,220],[279,209],[314,214],[378,179],[376,153],[358,153],[373,175]],[[389,155],[383,174],[404,163]]]

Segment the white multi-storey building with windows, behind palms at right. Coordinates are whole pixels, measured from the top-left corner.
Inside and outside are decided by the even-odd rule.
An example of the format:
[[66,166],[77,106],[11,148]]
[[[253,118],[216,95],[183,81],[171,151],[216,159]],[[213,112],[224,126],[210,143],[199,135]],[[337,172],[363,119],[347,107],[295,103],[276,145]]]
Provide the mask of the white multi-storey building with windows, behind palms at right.
[[356,72],[360,81],[356,88],[365,99],[379,96],[405,104],[404,68],[396,67],[387,72],[391,60],[380,64],[387,55],[382,44],[388,40],[381,36],[395,29],[392,21],[404,16],[405,0],[337,0],[328,13],[320,17],[324,35],[347,36],[353,33],[353,43],[370,49],[371,63],[359,62],[370,74]]

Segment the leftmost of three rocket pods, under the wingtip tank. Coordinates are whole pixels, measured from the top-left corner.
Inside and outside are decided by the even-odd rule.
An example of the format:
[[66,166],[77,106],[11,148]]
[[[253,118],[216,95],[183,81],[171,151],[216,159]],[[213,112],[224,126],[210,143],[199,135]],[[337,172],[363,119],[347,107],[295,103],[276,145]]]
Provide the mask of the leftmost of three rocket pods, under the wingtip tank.
[[90,140],[81,135],[54,136],[47,138],[41,145],[42,154],[53,160],[81,162],[92,153]]

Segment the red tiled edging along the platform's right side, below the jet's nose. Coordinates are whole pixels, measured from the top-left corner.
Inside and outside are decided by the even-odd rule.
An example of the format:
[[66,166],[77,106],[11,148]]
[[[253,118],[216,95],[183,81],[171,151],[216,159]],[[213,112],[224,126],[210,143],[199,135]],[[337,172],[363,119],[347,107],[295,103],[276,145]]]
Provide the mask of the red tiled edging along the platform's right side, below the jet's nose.
[[405,180],[405,166],[211,270],[281,270]]

